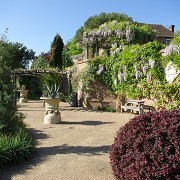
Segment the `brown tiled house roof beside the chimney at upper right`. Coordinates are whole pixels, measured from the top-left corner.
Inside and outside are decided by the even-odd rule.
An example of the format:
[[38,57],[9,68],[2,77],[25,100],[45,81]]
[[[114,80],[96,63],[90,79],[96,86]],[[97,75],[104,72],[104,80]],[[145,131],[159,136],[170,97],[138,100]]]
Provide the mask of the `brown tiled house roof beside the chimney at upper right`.
[[174,37],[174,33],[161,24],[148,24],[153,30],[157,31],[158,37]]

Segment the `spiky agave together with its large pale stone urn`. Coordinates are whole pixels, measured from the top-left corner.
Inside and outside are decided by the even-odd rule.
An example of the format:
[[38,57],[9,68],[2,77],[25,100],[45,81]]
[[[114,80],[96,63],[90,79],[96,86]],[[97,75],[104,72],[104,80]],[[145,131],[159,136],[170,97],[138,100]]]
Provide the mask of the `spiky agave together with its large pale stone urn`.
[[61,115],[59,112],[60,93],[56,84],[51,86],[45,85],[45,96],[41,97],[45,101],[45,124],[57,124],[61,122]]

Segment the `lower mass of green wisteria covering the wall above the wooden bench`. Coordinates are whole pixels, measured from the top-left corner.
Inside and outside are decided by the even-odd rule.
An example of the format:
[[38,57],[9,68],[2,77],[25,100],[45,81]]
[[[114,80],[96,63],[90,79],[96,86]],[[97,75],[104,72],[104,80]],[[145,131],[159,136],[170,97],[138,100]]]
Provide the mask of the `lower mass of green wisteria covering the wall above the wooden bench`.
[[[116,95],[156,100],[156,107],[173,109],[180,105],[179,83],[165,79],[163,48],[158,42],[124,46],[109,57],[95,57],[80,78],[83,82],[99,81]],[[173,56],[173,55],[172,55]],[[87,89],[87,88],[86,88]]]

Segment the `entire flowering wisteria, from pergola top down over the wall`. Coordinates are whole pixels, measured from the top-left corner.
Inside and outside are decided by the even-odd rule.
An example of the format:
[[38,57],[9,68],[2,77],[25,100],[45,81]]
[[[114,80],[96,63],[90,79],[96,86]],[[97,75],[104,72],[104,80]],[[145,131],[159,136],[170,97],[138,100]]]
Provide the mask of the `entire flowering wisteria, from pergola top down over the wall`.
[[[83,29],[83,44],[104,49],[103,56],[90,59],[79,79],[90,93],[92,81],[103,83],[112,93],[128,98],[148,98],[156,107],[180,106],[179,83],[168,84],[165,67],[172,61],[180,68],[180,33],[175,34],[170,53],[160,53],[165,45],[153,41],[155,32],[133,21],[109,21],[94,29]],[[93,88],[93,87],[92,87]]]

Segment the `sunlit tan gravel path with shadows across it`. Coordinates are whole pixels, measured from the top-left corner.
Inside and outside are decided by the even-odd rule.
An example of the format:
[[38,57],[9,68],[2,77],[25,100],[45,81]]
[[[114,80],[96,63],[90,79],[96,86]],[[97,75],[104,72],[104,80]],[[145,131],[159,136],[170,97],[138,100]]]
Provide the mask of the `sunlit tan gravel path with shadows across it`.
[[61,124],[44,124],[43,101],[21,104],[25,122],[37,141],[33,158],[6,167],[0,180],[113,180],[109,146],[116,131],[134,117],[69,107],[60,103]]

